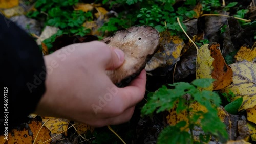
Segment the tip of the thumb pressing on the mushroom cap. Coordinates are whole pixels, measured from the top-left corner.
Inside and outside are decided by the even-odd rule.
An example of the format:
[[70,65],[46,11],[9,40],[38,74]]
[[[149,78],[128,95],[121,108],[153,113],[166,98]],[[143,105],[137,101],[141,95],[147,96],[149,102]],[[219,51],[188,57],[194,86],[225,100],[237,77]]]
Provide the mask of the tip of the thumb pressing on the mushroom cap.
[[120,49],[112,47],[111,57],[108,63],[106,64],[106,70],[113,70],[120,67],[123,64],[124,59],[125,59],[124,52]]

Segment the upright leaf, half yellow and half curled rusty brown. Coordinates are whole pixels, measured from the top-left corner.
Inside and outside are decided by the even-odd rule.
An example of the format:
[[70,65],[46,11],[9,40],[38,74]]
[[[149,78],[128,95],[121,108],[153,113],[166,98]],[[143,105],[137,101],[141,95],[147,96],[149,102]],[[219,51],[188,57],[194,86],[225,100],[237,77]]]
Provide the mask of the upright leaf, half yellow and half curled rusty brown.
[[212,88],[207,90],[223,89],[233,83],[233,72],[221,54],[220,45],[216,42],[204,44],[198,51],[196,63],[197,79],[215,79]]

